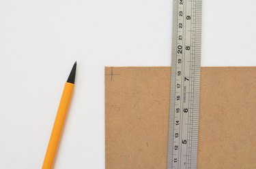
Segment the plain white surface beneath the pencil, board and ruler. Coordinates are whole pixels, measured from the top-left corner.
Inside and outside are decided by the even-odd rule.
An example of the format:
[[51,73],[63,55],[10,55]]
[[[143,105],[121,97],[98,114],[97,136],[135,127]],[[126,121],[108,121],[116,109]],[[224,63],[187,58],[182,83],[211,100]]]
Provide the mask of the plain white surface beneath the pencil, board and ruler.
[[[41,168],[74,60],[55,168],[104,168],[104,66],[170,66],[171,2],[1,0],[0,168]],[[203,0],[202,66],[256,66],[255,6]]]

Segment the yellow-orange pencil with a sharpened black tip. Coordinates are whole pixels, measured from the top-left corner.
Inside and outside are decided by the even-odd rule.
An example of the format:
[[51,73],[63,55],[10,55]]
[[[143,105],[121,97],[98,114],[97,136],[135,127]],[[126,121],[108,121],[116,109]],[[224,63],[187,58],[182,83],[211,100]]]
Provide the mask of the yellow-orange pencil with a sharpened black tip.
[[44,157],[44,163],[42,164],[42,169],[51,169],[55,161],[55,156],[57,154],[57,149],[59,147],[59,141],[61,140],[61,133],[65,123],[66,115],[68,112],[68,107],[70,105],[70,100],[72,98],[72,92],[74,89],[74,79],[76,76],[76,62],[72,67],[72,71],[65,83],[61,101],[59,102],[59,108],[53,125],[53,130],[51,133],[51,138],[48,143],[46,150],[46,155]]

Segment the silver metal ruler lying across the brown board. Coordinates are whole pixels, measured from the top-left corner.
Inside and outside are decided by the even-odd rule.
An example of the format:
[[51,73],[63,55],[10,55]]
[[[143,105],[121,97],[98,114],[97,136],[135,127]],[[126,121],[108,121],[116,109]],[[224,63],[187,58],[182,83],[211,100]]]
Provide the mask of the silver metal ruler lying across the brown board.
[[202,0],[173,0],[167,169],[197,168]]

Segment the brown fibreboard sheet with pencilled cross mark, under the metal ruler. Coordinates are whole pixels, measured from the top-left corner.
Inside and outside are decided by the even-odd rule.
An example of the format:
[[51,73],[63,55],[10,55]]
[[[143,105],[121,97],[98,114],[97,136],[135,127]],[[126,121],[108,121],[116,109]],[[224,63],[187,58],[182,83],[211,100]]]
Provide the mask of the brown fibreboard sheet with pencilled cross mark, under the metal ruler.
[[[106,67],[106,169],[165,169],[169,67]],[[198,169],[256,169],[256,67],[203,67]]]

